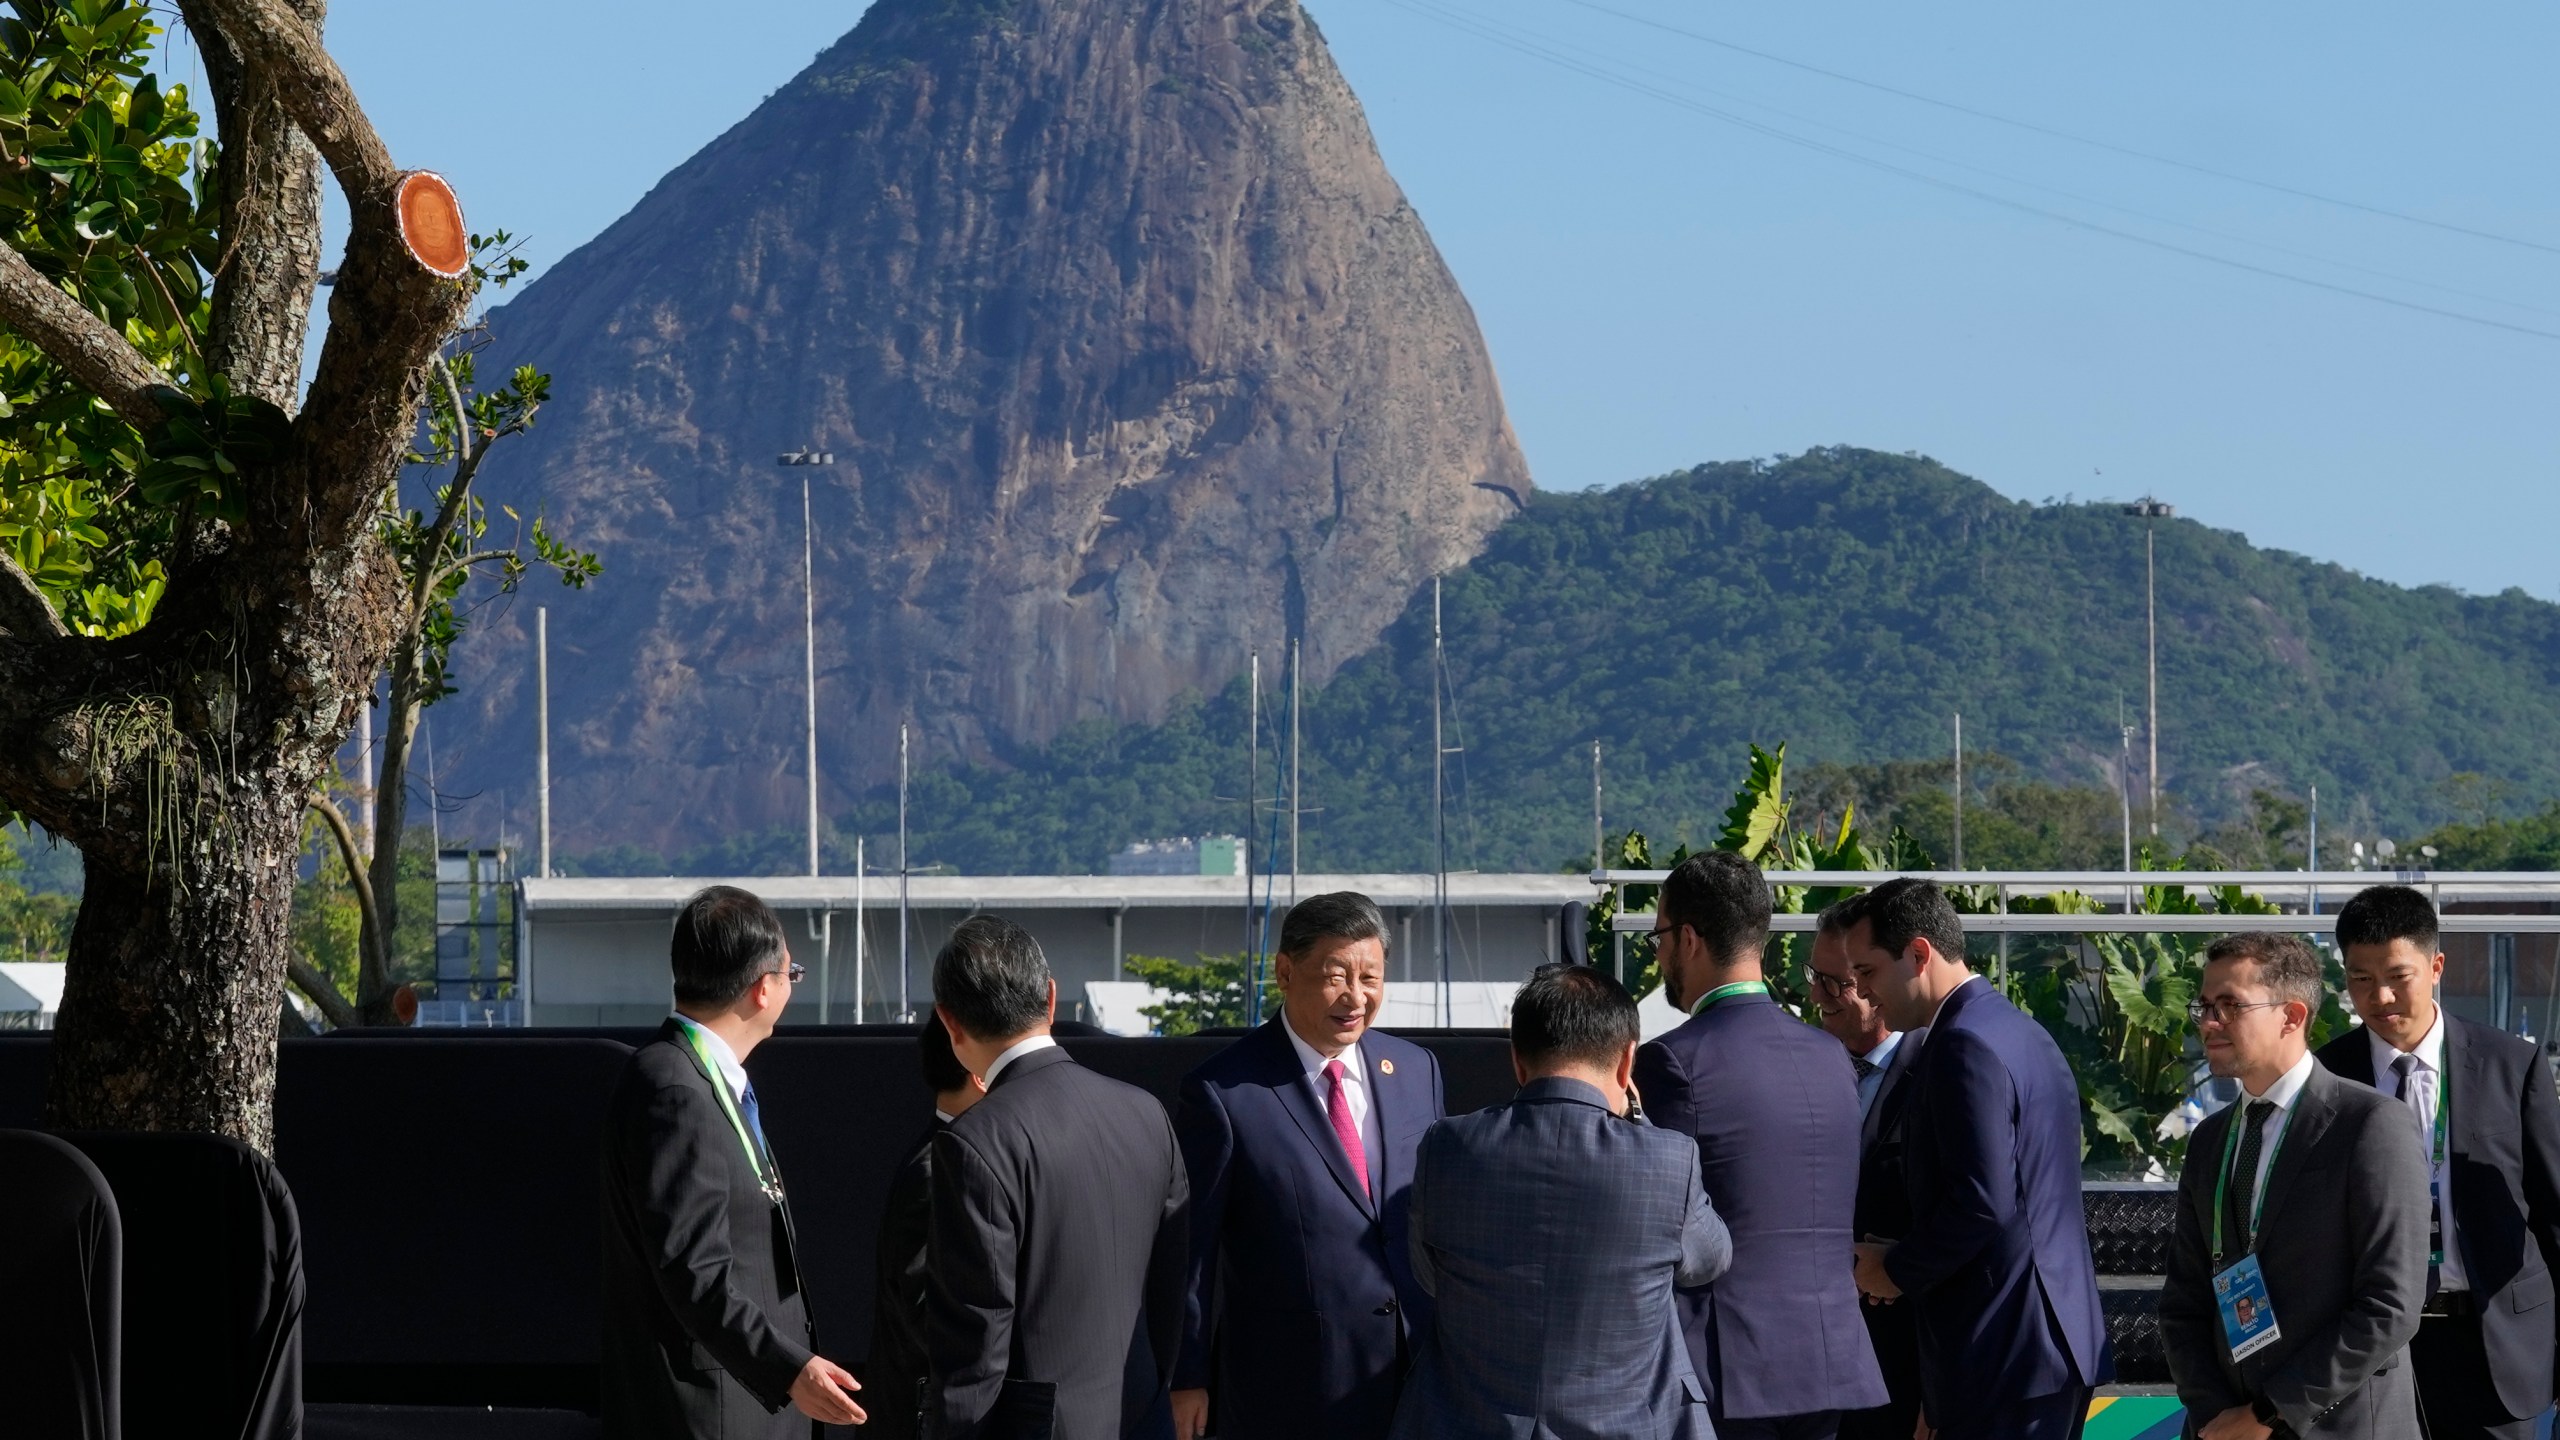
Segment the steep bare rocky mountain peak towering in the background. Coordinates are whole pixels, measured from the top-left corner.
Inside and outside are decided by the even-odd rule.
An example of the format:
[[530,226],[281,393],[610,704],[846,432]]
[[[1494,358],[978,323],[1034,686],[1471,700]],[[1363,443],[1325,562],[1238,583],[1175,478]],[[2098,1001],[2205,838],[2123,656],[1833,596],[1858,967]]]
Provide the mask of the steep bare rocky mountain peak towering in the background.
[[[558,377],[497,484],[607,561],[553,602],[568,851],[796,822],[804,474],[829,807],[901,720],[988,758],[1290,635],[1324,679],[1528,495],[1290,0],[878,0],[494,333]],[[433,712],[443,789],[517,822],[530,630]]]

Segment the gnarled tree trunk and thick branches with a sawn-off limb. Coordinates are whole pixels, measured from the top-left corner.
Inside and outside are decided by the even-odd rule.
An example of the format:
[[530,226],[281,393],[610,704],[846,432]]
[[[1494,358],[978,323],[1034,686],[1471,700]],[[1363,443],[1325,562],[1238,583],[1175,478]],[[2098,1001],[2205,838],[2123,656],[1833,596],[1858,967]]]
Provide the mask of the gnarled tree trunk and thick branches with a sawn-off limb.
[[[230,126],[248,128],[225,154],[253,179],[225,192],[218,348],[243,389],[289,400],[300,318],[266,307],[300,315],[317,254],[294,131],[348,197],[330,336],[287,446],[243,477],[246,520],[184,546],[141,633],[67,635],[0,556],[0,799],[87,866],[49,1120],[266,1148],[300,815],[392,643],[399,566],[374,512],[407,454],[422,366],[468,292],[402,243],[399,169],[320,46],[317,5],[182,13],[215,74],[225,151]],[[10,284],[10,261],[0,254],[0,323],[120,413],[154,413],[156,377],[123,336]]]

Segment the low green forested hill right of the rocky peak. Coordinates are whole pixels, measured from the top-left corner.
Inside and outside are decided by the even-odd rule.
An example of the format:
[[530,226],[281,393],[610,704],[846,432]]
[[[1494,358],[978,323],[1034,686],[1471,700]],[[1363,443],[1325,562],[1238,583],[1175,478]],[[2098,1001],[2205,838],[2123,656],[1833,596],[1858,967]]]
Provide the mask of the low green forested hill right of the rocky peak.
[[[2291,843],[2286,863],[2301,863],[2289,805],[2314,784],[2332,856],[2463,817],[2481,794],[2509,810],[2560,797],[2560,607],[2381,584],[2191,520],[2161,525],[2158,566],[2171,848],[2214,830],[2225,853],[2258,835],[2266,861]],[[1807,805],[1900,802],[1915,833],[1935,830],[1943,761],[1882,761],[1943,758],[1958,710],[1969,751],[2012,761],[1969,774],[1984,810],[1971,863],[2002,863],[1989,848],[2115,856],[2117,715],[2143,710],[2143,523],[2117,505],[2012,502],[1935,461],[1853,448],[1541,492],[1449,577],[1444,628],[1449,743],[1464,746],[1449,769],[1454,869],[1587,856],[1595,738],[1610,830],[1710,835],[1748,740],[1789,743]],[[1280,664],[1265,656],[1265,838]],[[1011,769],[919,776],[914,858],[1098,871],[1126,840],[1239,830],[1244,761],[1239,676],[1162,725],[1088,725]],[[1308,869],[1428,869],[1428,589],[1308,692],[1303,802]],[[837,863],[852,833],[881,863],[893,794],[840,825]],[[2038,825],[2053,833],[2038,840]],[[794,846],[730,840],[676,861],[753,874],[791,869]]]

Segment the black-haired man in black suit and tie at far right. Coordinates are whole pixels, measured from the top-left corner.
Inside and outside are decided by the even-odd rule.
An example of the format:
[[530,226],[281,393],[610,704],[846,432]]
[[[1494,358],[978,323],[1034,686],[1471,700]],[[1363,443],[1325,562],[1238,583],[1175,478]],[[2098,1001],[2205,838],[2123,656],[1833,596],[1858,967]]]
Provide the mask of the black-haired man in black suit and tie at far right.
[[2429,1440],[2527,1440],[2552,1402],[2560,1097],[2532,1040],[2447,1015],[2435,904],[2406,884],[2337,912],[2363,1030],[2319,1063],[2406,1112],[2429,1168],[2429,1286],[2409,1361]]

